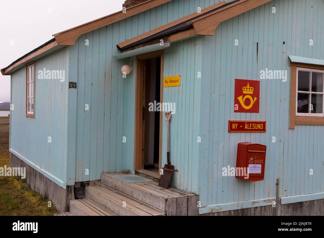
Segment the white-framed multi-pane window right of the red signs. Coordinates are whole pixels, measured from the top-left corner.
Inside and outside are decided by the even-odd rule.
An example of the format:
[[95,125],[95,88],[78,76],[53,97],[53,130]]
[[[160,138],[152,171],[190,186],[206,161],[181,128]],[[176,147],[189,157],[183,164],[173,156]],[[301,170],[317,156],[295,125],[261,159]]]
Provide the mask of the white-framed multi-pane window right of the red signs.
[[324,117],[324,70],[296,71],[296,116]]

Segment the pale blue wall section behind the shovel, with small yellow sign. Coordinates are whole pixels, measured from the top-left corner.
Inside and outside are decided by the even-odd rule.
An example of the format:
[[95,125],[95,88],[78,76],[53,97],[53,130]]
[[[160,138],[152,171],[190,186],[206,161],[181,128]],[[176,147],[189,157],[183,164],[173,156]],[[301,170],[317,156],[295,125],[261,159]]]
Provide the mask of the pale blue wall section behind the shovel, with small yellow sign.
[[[170,186],[199,193],[200,94],[203,37],[194,37],[171,44],[164,51],[163,76],[181,76],[179,87],[164,87],[163,102],[175,103],[170,123],[170,160],[178,169]],[[162,120],[162,166],[167,164],[166,121]]]

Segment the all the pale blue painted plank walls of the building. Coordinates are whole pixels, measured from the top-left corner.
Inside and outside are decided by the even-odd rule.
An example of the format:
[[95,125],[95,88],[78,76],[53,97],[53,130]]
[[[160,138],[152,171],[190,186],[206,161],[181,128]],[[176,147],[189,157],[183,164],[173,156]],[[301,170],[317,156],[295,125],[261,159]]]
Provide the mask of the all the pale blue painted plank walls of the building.
[[[13,73],[12,103],[18,108],[12,113],[10,148],[68,185],[100,179],[102,172],[133,171],[135,72],[124,79],[120,68],[132,60],[135,66],[135,57],[114,60],[116,45],[214,3],[174,0],[82,35],[74,46],[36,61],[35,70],[65,69],[66,81],[62,91],[58,82],[36,81],[35,119],[24,116],[25,70]],[[272,5],[276,14],[271,13]],[[319,0],[272,1],[221,23],[215,36],[180,41],[164,51],[164,76],[181,75],[180,87],[163,91],[164,102],[177,104],[171,122],[171,161],[179,172],[174,173],[173,187],[200,194],[202,206],[275,197],[279,177],[282,197],[324,191],[322,126],[288,130],[288,55],[324,59],[319,43],[324,39],[323,12]],[[314,40],[312,47],[309,39]],[[265,68],[288,70],[288,81],[261,80],[260,113],[234,113],[234,79],[258,80]],[[67,90],[68,80],[77,82],[77,90]],[[229,134],[229,119],[266,120],[267,132]],[[29,134],[37,146],[30,146]],[[61,144],[53,143],[58,136]],[[121,142],[123,136],[126,143]],[[221,176],[222,167],[235,166],[237,143],[246,141],[267,145],[264,181]],[[165,154],[163,143],[162,165]]]

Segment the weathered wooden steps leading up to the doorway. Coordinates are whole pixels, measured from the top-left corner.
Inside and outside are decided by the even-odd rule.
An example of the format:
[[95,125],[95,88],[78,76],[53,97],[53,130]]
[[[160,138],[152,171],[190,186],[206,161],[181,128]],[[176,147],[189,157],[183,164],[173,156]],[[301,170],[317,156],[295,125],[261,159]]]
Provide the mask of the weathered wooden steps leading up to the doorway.
[[[55,216],[188,216],[198,215],[199,196],[157,182],[126,183],[102,174],[100,185],[87,186],[86,198],[70,200],[69,213]],[[126,175],[127,176],[127,175]]]

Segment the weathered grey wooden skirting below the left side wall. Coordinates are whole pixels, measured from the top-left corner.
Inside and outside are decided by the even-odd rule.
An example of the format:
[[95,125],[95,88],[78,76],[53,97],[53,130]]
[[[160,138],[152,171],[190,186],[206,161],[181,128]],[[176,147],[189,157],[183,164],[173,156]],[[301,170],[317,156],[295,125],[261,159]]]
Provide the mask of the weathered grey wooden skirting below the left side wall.
[[69,198],[74,199],[73,187],[64,189],[63,186],[57,184],[52,179],[43,175],[40,171],[33,168],[21,156],[10,151],[10,167],[25,167],[26,179],[32,190],[43,195],[46,199],[52,201],[52,205],[59,212],[69,210]]

